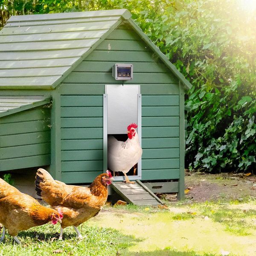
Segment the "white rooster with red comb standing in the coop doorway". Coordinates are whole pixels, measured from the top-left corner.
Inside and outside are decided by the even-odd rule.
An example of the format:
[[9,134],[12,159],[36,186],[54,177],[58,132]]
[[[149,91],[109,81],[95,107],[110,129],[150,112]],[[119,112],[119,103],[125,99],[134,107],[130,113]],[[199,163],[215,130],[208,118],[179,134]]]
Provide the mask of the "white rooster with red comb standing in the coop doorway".
[[108,168],[113,172],[123,172],[126,183],[134,183],[126,173],[138,163],[142,155],[139,136],[135,130],[137,127],[135,123],[128,125],[128,139],[125,142],[116,140],[113,136],[108,137]]

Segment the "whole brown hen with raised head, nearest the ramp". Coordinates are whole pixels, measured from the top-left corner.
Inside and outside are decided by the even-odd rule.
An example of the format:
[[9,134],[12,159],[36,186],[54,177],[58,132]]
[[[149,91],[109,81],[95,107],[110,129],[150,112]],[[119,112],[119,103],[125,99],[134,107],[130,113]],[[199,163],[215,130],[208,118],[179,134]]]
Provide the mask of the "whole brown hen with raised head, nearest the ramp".
[[108,198],[107,186],[111,180],[111,172],[107,171],[97,176],[89,187],[67,185],[54,180],[46,170],[38,169],[35,176],[37,195],[63,214],[59,239],[62,239],[63,229],[69,226],[73,226],[78,237],[82,238],[77,227],[102,209]]

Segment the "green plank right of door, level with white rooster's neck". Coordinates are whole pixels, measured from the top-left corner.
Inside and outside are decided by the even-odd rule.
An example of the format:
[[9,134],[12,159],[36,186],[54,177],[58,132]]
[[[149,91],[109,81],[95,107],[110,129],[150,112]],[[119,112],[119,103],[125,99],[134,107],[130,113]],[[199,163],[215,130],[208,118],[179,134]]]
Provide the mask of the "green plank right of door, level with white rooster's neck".
[[179,138],[143,138],[143,148],[179,148]]

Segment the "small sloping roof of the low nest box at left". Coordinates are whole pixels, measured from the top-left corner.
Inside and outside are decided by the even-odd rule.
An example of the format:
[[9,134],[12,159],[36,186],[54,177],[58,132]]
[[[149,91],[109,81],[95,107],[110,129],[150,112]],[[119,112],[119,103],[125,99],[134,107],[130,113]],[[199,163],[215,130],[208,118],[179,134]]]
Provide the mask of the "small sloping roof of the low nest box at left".
[[51,99],[44,96],[0,96],[0,117],[45,105]]

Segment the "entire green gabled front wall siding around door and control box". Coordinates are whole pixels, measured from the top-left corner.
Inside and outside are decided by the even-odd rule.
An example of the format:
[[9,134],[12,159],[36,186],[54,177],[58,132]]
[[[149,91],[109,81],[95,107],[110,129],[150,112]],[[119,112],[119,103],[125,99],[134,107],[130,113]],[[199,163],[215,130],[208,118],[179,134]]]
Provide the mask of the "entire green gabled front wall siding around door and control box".
[[143,179],[179,177],[178,80],[134,31],[122,27],[114,30],[61,84],[64,182],[91,182],[96,177],[92,174],[103,171],[102,95],[105,84],[122,83],[112,77],[113,64],[122,62],[134,64],[134,79],[124,83],[140,84],[143,94]]

